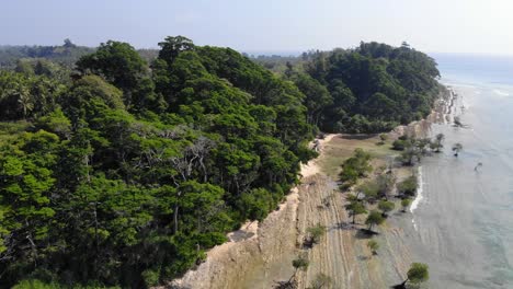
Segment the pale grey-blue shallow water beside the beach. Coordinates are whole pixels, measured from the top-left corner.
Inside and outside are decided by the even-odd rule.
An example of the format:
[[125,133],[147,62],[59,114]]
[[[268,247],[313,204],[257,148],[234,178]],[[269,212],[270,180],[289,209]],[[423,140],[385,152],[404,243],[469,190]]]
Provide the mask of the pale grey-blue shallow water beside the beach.
[[[475,88],[456,92],[452,117],[466,127],[433,126],[432,134],[445,134],[445,149],[422,163],[417,228],[403,219],[398,226],[413,258],[430,265],[430,288],[513,288],[513,139],[503,126],[513,106],[491,90],[483,89],[485,96]],[[451,151],[455,142],[464,144],[458,158]]]

